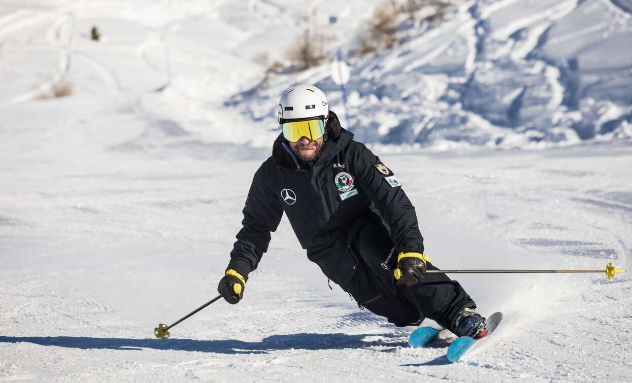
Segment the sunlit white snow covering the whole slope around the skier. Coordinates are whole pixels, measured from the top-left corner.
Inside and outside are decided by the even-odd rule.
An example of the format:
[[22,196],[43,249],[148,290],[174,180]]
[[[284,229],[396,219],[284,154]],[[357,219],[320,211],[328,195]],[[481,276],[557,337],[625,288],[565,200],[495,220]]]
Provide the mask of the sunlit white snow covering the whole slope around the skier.
[[[334,6],[311,4],[323,12]],[[355,25],[341,23],[351,31],[360,23],[353,16],[370,14],[377,1],[341,4],[341,18],[358,19]],[[454,20],[486,20],[480,33],[463,32],[463,38],[491,44],[494,49],[485,54],[504,54],[514,68],[540,62],[534,83],[538,75],[554,77],[561,65],[556,60],[562,60],[555,55],[563,52],[547,44],[562,36],[576,39],[582,62],[581,54],[614,49],[608,48],[611,40],[629,33],[622,27],[585,48],[581,36],[592,29],[575,33],[571,21],[559,23],[600,9],[628,20],[623,1],[476,4],[453,9]],[[337,286],[330,290],[286,219],[239,305],[218,301],[174,327],[173,339],[155,339],[157,324],[171,324],[216,296],[250,179],[278,134],[272,112],[279,92],[288,83],[312,82],[336,103],[325,66],[279,76],[269,89],[251,92],[262,75],[253,56],[262,47],[283,51],[267,37],[278,34],[279,25],[298,30],[298,8],[290,1],[190,1],[187,7],[168,1],[0,1],[0,379],[628,380],[628,274],[614,281],[601,274],[459,276],[482,313],[502,310],[506,320],[493,348],[453,365],[445,348],[407,348],[412,329],[392,327],[359,310]],[[98,44],[87,38],[93,24],[104,35]],[[545,26],[549,40],[542,44],[533,33]],[[372,146],[403,181],[435,264],[602,269],[614,262],[629,269],[632,150],[629,140],[614,140],[624,137],[626,124],[582,145],[532,150],[529,137],[535,133],[528,131],[538,128],[495,125],[489,122],[492,109],[443,101],[446,95],[461,97],[465,84],[476,88],[483,76],[494,80],[499,94],[512,94],[513,80],[509,70],[492,70],[502,62],[492,56],[465,54],[461,71],[477,73],[470,77],[428,73],[428,66],[447,68],[449,63],[436,60],[452,57],[423,51],[431,37],[441,40],[441,28],[358,62],[356,84],[349,85],[355,89],[350,100],[356,102],[356,133],[369,143],[392,144]],[[507,36],[520,28],[526,34],[518,44]],[[503,47],[503,39],[511,46]],[[537,49],[526,49],[529,44]],[[624,53],[618,56],[623,61]],[[491,63],[482,66],[487,74],[472,66],[478,61]],[[425,69],[405,75],[408,66]],[[599,70],[621,85],[625,71],[613,68],[581,69],[574,78],[595,80]],[[54,73],[67,76],[75,94],[37,99],[40,85]],[[623,114],[606,108],[595,118],[624,116],[626,105],[615,95],[622,88],[612,87],[612,96],[600,99],[597,94],[609,85],[597,80],[590,86],[577,81],[593,105],[619,105],[615,109]],[[559,93],[546,105],[565,97],[556,87],[566,85],[551,84]],[[369,92],[375,85],[383,87]],[[528,92],[525,100],[535,100]],[[410,97],[402,103],[395,97],[400,94]],[[407,128],[393,128],[404,119],[391,112],[396,104],[410,116]],[[397,137],[428,130],[415,111],[430,108],[436,116],[453,111],[465,117],[453,130],[433,128],[427,140],[417,140],[425,149],[400,145]],[[566,117],[584,110],[556,108]],[[495,144],[496,134],[522,149],[468,148],[477,137],[480,145],[494,137],[489,146],[502,147]],[[580,141],[558,143],[571,142]]]

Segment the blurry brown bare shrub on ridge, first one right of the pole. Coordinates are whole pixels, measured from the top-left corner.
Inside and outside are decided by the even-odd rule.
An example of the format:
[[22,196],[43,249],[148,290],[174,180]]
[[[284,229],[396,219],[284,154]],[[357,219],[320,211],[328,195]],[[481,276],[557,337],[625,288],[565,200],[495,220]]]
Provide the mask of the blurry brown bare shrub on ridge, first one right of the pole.
[[380,49],[391,49],[397,46],[399,39],[396,32],[399,25],[399,11],[394,3],[389,2],[386,6],[376,9],[358,37],[360,40],[358,54],[377,52]]

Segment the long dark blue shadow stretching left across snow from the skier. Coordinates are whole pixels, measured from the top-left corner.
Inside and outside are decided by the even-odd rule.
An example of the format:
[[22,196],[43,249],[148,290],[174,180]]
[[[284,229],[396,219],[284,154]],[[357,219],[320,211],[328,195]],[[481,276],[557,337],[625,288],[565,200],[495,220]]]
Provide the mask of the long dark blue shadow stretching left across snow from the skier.
[[[375,334],[291,334],[273,335],[260,342],[238,341],[236,339],[224,341],[198,341],[195,339],[127,339],[127,338],[100,338],[100,337],[74,337],[74,336],[0,336],[0,343],[33,343],[41,346],[58,346],[66,348],[105,349],[105,350],[178,350],[200,351],[205,353],[221,354],[249,354],[267,353],[274,350],[341,350],[345,348],[367,348],[371,346],[384,346],[392,348],[406,347],[405,342],[392,339],[393,334],[380,334],[384,338],[379,341],[363,341],[363,338]],[[391,351],[380,350],[380,351]]]

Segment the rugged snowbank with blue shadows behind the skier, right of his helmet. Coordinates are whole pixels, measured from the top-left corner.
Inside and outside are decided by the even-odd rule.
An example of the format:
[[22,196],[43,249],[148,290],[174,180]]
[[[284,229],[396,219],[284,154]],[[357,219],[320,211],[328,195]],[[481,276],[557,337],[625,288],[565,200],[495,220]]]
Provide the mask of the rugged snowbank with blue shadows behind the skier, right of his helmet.
[[[376,58],[348,59],[360,140],[535,149],[632,136],[632,3],[454,3],[438,27],[411,28]],[[325,67],[310,75],[340,107]],[[258,102],[288,81],[277,83]],[[252,93],[236,104],[247,114]]]

